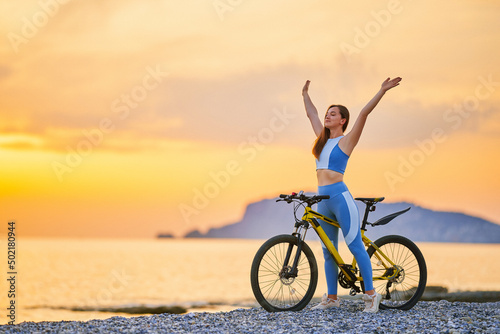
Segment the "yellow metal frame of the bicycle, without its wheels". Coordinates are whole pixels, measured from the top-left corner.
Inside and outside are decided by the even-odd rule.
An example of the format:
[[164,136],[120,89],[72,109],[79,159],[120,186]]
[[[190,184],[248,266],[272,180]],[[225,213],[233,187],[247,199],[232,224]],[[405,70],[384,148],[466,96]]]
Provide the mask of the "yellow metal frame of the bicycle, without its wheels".
[[[353,273],[348,273],[346,271],[346,269],[344,269],[344,266],[343,266],[343,265],[345,265],[344,260],[342,260],[342,257],[340,256],[339,252],[337,251],[335,246],[332,244],[332,242],[330,241],[330,238],[328,238],[325,231],[323,230],[323,228],[321,227],[321,225],[319,224],[319,222],[316,219],[321,219],[330,225],[333,225],[335,227],[340,228],[339,223],[333,219],[330,219],[330,218],[316,212],[316,211],[313,211],[311,209],[311,207],[309,207],[309,206],[307,206],[305,208],[304,215],[302,216],[302,220],[305,220],[305,221],[310,223],[310,225],[313,227],[313,229],[316,231],[319,238],[321,239],[321,241],[325,245],[326,249],[328,249],[328,252],[332,255],[333,259],[335,260],[335,263],[337,263],[337,266],[344,273],[345,277],[347,279],[349,279]],[[390,268],[396,269],[394,272],[392,272],[392,274],[390,276],[385,276],[385,274],[382,276],[376,276],[376,277],[374,276],[373,280],[380,281],[380,280],[390,280],[390,279],[395,278],[400,272],[399,268],[395,265],[395,263],[393,261],[391,261],[391,259],[389,257],[387,257],[387,255],[385,255],[382,252],[382,250],[380,250],[380,248],[378,248],[377,245],[375,245],[374,242],[372,242],[370,239],[368,239],[368,237],[365,236],[364,230],[361,230],[361,238],[362,238],[363,243],[365,244],[366,247],[372,246],[373,248],[375,248],[375,253],[373,255],[378,259],[379,264],[383,265],[385,269],[390,269]],[[352,268],[355,268],[355,267],[356,267],[356,259],[353,259]],[[387,272],[388,271],[386,270],[386,273]],[[363,280],[363,278],[361,276],[356,276],[356,281],[362,281],[362,280]]]

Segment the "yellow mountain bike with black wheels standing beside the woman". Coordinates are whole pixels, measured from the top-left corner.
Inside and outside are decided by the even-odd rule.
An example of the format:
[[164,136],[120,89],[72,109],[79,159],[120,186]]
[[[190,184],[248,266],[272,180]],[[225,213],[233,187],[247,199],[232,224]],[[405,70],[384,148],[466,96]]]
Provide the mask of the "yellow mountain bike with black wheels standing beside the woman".
[[[312,205],[329,198],[328,195],[307,196],[301,191],[299,194],[280,195],[277,200],[294,203],[295,231],[291,235],[281,234],[267,240],[253,259],[250,271],[252,290],[265,310],[299,311],[311,301],[318,283],[318,265],[313,251],[304,241],[307,230],[311,227],[340,269],[340,286],[350,288],[351,296],[365,292],[363,278],[358,275],[356,259],[353,259],[351,264],[343,261],[318,219],[337,227],[339,223],[311,208]],[[427,281],[427,267],[422,253],[415,243],[403,236],[387,235],[372,242],[365,236],[365,231],[368,225],[385,225],[410,208],[369,223],[368,214],[375,211],[375,205],[385,198],[355,199],[366,205],[361,223],[361,237],[371,259],[374,289],[382,295],[380,308],[409,310],[422,296]],[[298,219],[297,211],[300,207],[304,208],[304,214]]]

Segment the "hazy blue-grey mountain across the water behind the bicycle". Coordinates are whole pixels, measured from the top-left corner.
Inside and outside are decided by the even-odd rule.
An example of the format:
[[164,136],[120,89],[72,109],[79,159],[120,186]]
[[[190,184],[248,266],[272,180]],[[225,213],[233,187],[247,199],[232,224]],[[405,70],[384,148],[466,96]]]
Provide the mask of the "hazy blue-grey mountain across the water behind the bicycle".
[[[357,205],[360,216],[363,217],[365,205],[361,202],[357,202]],[[378,203],[376,211],[368,216],[368,221],[373,223],[408,207],[411,208],[410,211],[387,225],[368,226],[366,235],[372,240],[388,234],[398,234],[416,242],[500,243],[500,225],[462,213],[433,211],[406,202]],[[303,209],[299,209],[299,218],[302,213]],[[268,239],[277,234],[293,232],[294,221],[292,204],[265,199],[249,204],[240,222],[212,228],[205,234],[192,231],[185,237]],[[309,230],[307,239],[319,238],[314,231]]]

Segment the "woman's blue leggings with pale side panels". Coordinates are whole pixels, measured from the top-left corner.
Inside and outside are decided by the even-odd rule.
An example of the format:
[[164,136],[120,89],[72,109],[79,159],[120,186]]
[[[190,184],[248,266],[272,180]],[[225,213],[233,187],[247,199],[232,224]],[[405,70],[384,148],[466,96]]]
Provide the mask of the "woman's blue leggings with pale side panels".
[[[361,240],[359,212],[349,189],[347,189],[344,182],[338,182],[327,186],[319,186],[318,193],[320,195],[330,195],[330,199],[323,200],[318,203],[318,212],[339,222],[347,247],[349,247],[349,250],[352,255],[354,255],[354,258],[358,263],[361,276],[363,277],[363,281],[365,283],[365,291],[372,290],[372,264],[364,247],[363,241]],[[338,249],[338,227],[330,225],[322,220],[319,222],[335,248]],[[322,246],[323,256],[325,257],[325,274],[328,294],[336,295],[337,280],[339,275],[338,267],[325,245]]]

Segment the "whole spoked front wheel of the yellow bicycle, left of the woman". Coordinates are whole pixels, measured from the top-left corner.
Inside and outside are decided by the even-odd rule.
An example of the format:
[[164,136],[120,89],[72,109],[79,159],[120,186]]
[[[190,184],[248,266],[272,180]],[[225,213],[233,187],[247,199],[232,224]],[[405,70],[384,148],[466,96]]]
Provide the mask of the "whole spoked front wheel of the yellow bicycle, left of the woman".
[[289,245],[290,263],[297,252],[297,237],[277,235],[267,240],[257,251],[250,270],[252,291],[258,303],[269,312],[299,311],[314,295],[318,284],[318,265],[311,248],[302,243],[297,277],[282,278],[280,272]]

